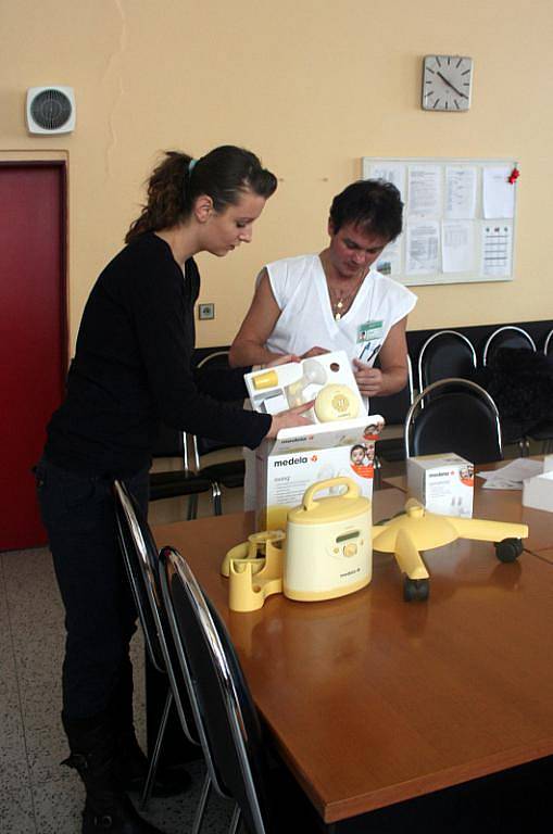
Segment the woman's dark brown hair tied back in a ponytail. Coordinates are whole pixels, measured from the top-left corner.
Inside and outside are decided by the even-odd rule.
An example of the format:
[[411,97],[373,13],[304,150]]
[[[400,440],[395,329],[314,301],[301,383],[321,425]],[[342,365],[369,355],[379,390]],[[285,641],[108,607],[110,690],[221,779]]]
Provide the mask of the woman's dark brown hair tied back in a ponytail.
[[248,190],[268,198],[276,191],[277,179],[263,168],[254,153],[232,144],[215,148],[193,162],[179,151],[167,151],[148,181],[148,202],[125,237],[129,243],[144,231],[160,231],[185,220],[200,194],[213,200],[221,212],[236,205]]

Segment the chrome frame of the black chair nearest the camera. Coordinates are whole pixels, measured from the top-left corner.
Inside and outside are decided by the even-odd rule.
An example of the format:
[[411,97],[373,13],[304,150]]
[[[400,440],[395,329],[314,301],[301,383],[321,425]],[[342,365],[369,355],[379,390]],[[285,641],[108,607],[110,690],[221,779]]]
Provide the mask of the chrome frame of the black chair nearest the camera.
[[[215,764],[215,757],[213,755],[210,741],[208,737],[205,722],[199,708],[198,697],[194,688],[194,680],[190,671],[189,661],[187,659],[186,646],[184,645],[181,640],[180,630],[177,623],[175,608],[174,608],[171,589],[168,584],[167,566],[169,565],[179,577],[179,580],[183,584],[187,598],[194,612],[197,622],[199,627],[202,629],[206,643],[210,647],[212,664],[214,669],[216,670],[217,680],[221,686],[221,692],[223,693],[225,710],[228,717],[229,728],[230,728],[230,732],[235,743],[235,749],[240,763],[241,775],[243,779],[246,792],[248,795],[248,800],[250,804],[250,809],[252,812],[252,819],[254,823],[254,831],[252,832],[252,834],[267,834],[265,823],[263,821],[263,816],[261,812],[259,799],[257,799],[257,794],[255,791],[255,785],[253,782],[250,762],[248,759],[248,753],[246,749],[247,724],[243,718],[238,693],[236,691],[234,677],[226,659],[225,648],[221,641],[217,628],[213,621],[210,607],[206,603],[203,592],[200,585],[198,584],[198,581],[194,574],[192,573],[188,563],[180,555],[180,553],[178,553],[178,551],[176,551],[173,547],[163,547],[160,554],[160,559],[161,559],[160,580],[161,580],[163,602],[167,612],[169,627],[173,633],[173,640],[177,649],[177,656],[180,661],[183,675],[186,680],[186,683],[189,690],[190,702],[192,705],[192,709],[194,710],[196,724],[198,726],[202,750],[203,750],[205,763],[208,767],[206,779],[209,780],[209,784],[204,785],[204,789],[206,793],[209,793],[211,787],[213,787],[222,797],[231,798],[229,797],[228,793],[225,791],[225,787],[222,785],[218,779],[217,768]],[[229,834],[236,834],[240,823],[240,818],[241,818],[241,810],[237,803],[232,812]]]

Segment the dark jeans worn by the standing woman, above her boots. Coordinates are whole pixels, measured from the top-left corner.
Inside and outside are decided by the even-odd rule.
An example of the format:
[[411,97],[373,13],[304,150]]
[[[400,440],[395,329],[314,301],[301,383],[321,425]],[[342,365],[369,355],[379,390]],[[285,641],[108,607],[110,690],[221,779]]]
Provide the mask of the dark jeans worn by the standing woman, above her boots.
[[[68,472],[45,458],[36,477],[65,606],[63,715],[77,721],[106,710],[128,675],[137,611],[117,541],[111,481]],[[146,515],[148,470],[125,483]]]

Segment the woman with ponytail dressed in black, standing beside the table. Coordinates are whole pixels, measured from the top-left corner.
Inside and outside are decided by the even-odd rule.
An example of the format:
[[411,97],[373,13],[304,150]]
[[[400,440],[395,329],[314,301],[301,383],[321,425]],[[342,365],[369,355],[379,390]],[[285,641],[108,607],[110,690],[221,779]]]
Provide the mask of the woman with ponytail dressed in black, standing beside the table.
[[[272,417],[198,391],[191,372],[193,256],[248,243],[275,176],[226,146],[193,160],[169,152],[126,247],[98,278],[85,307],[66,397],[48,426],[36,467],[38,495],[66,612],[62,722],[86,787],[83,834],[159,834],[126,792],[146,757],[133,725],[129,642],[136,609],[122,563],[111,483],[123,480],[142,511],[160,422],[254,448],[279,428],[304,425],[310,404]],[[159,794],[184,789],[160,775]]]

